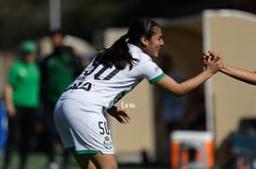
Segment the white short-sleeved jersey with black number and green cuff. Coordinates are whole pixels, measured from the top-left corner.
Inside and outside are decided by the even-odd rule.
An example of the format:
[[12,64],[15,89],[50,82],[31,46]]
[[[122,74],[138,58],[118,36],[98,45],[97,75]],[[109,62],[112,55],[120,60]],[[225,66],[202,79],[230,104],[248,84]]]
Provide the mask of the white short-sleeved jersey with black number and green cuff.
[[95,112],[105,112],[126,93],[130,92],[139,82],[146,78],[155,83],[165,76],[142,49],[128,44],[133,58],[139,60],[132,69],[127,66],[123,70],[105,67],[93,60],[68,87],[60,99],[74,99]]

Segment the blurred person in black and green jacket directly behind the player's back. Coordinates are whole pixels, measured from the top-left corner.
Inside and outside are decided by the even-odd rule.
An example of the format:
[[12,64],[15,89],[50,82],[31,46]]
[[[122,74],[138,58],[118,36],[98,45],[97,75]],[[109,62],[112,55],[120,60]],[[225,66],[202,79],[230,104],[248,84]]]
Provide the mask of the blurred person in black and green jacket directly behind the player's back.
[[[45,142],[48,156],[47,168],[58,168],[54,159],[56,130],[53,121],[53,108],[60,94],[83,71],[83,61],[73,49],[65,45],[65,35],[57,30],[51,34],[53,52],[40,63],[42,73],[43,120],[46,132]],[[69,152],[64,151],[63,167],[68,168]]]

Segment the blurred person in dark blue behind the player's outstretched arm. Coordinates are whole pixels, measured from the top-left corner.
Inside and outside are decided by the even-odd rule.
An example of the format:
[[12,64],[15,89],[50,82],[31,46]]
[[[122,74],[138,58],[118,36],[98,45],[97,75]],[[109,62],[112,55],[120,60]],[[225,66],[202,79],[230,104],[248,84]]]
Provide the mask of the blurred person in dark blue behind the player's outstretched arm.
[[[164,53],[159,57],[159,63],[163,71],[173,77],[177,82],[182,82],[186,80],[185,75],[174,66],[173,56],[169,53]],[[161,116],[162,121],[164,122],[165,131],[165,142],[166,142],[166,157],[165,162],[170,163],[170,134],[173,130],[180,130],[184,126],[184,120],[187,110],[187,101],[188,96],[177,97],[170,92],[161,90],[160,99],[161,99]]]

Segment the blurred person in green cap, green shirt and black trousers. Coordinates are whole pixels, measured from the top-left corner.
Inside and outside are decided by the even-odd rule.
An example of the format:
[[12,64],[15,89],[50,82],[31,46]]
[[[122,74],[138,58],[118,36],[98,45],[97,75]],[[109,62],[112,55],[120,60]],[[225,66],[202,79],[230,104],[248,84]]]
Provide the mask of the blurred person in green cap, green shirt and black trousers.
[[25,168],[38,114],[40,72],[36,63],[36,43],[31,40],[24,41],[20,56],[20,60],[9,69],[5,88],[8,143],[5,149],[4,169],[9,168],[11,151],[16,146],[21,157],[19,168]]

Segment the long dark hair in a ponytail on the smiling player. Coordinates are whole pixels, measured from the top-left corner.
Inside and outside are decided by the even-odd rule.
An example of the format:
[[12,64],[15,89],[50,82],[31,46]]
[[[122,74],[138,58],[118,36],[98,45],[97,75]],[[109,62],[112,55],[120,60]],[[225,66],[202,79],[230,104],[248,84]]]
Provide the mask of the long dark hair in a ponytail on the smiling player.
[[134,63],[139,60],[130,55],[128,43],[138,47],[142,46],[140,41],[141,36],[144,35],[150,39],[155,34],[155,28],[157,26],[159,26],[157,22],[149,19],[138,19],[134,21],[129,26],[126,35],[122,35],[110,48],[103,48],[98,53],[98,63],[103,63],[107,67],[114,65],[117,69],[124,69],[128,65],[129,69],[131,69]]

